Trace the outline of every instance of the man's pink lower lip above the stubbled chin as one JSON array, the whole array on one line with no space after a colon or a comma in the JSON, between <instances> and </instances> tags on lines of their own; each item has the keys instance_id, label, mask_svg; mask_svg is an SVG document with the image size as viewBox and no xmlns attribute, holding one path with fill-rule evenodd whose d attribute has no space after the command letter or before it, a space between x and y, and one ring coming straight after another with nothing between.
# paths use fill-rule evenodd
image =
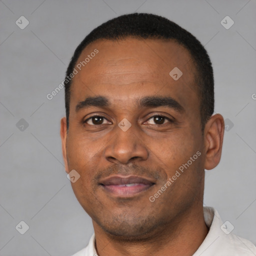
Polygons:
<instances>
[{"instance_id":1,"label":"man's pink lower lip above the stubbled chin","mask_svg":"<svg viewBox=\"0 0 256 256\"><path fill-rule=\"evenodd\" d=\"M122 197L132 196L139 192L147 190L152 185L137 183L131 186L123 185L102 185L107 191Z\"/></svg>"}]
</instances>

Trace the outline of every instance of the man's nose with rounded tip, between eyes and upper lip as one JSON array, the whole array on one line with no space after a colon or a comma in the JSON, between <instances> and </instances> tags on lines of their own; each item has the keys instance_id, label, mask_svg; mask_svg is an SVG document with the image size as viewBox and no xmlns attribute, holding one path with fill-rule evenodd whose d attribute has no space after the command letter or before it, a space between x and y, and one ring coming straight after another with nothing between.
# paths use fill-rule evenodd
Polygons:
<instances>
[{"instance_id":1,"label":"man's nose with rounded tip, between eyes and upper lip","mask_svg":"<svg viewBox=\"0 0 256 256\"><path fill-rule=\"evenodd\" d=\"M112 137L104 151L108 161L128 164L135 159L137 161L147 159L148 150L139 136L139 131L133 125L126 131L116 125L113 132L115 136Z\"/></svg>"}]
</instances>

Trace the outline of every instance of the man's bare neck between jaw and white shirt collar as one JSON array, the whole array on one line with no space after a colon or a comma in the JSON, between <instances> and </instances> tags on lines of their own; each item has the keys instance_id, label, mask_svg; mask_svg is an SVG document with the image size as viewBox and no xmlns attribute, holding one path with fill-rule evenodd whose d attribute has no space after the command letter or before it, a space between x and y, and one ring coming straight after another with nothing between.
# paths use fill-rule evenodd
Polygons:
<instances>
[{"instance_id":1,"label":"man's bare neck between jaw and white shirt collar","mask_svg":"<svg viewBox=\"0 0 256 256\"><path fill-rule=\"evenodd\" d=\"M99 256L191 256L200 246L208 228L204 222L203 207L197 206L178 216L169 225L159 227L157 231L143 240L120 240L102 230L93 222L96 250Z\"/></svg>"}]
</instances>

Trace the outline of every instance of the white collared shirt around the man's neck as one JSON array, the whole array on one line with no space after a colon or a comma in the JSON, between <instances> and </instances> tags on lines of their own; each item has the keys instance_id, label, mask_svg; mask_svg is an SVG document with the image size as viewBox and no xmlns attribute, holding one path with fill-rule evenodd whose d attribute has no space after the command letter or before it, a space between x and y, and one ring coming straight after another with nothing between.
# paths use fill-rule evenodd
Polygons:
<instances>
[{"instance_id":1,"label":"white collared shirt around the man's neck","mask_svg":"<svg viewBox=\"0 0 256 256\"><path fill-rule=\"evenodd\" d=\"M232 224L228 221L223 223L213 207L203 207L203 215L209 231L192 256L256 255L256 246L249 240L233 234ZM93 233L88 245L72 256L98 256L94 242L95 234Z\"/></svg>"}]
</instances>

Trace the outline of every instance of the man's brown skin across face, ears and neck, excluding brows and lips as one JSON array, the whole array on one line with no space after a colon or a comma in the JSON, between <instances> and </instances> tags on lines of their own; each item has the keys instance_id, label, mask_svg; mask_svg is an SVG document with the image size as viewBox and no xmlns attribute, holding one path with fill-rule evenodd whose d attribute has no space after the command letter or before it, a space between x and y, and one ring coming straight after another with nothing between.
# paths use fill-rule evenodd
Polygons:
<instances>
[{"instance_id":1,"label":"man's brown skin across face, ears and neck, excluding brows and lips","mask_svg":"<svg viewBox=\"0 0 256 256\"><path fill-rule=\"evenodd\" d=\"M92 218L100 256L192 255L208 228L203 218L204 169L221 156L224 121L212 115L202 133L196 72L189 52L172 40L97 40L86 46L77 63L99 52L74 76L69 129L61 119L65 170L80 178L71 183L75 196ZM182 71L170 77L173 67ZM88 96L102 95L109 106L75 111ZM138 107L144 96L170 96L184 111L166 106ZM102 124L87 118L103 116ZM155 114L166 116L161 124ZM127 131L118 127L126 118ZM154 195L196 151L201 155L154 202ZM107 193L98 184L113 174L150 178L154 185L130 198Z\"/></svg>"}]
</instances>

